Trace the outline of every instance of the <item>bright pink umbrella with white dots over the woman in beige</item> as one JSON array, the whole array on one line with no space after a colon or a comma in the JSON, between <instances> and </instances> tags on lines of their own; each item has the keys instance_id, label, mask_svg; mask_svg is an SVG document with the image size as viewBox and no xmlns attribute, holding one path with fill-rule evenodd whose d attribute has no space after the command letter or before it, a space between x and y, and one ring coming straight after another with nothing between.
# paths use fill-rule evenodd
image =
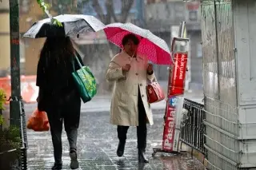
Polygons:
<instances>
[{"instance_id":1,"label":"bright pink umbrella with white dots over the woman in beige","mask_svg":"<svg viewBox=\"0 0 256 170\"><path fill-rule=\"evenodd\" d=\"M140 42L138 45L138 53L146 55L148 59L158 65L171 65L172 59L170 49L166 42L150 30L142 29L131 23L113 23L106 25L104 28L106 38L122 48L122 38L126 34L135 34Z\"/></svg>"}]
</instances>

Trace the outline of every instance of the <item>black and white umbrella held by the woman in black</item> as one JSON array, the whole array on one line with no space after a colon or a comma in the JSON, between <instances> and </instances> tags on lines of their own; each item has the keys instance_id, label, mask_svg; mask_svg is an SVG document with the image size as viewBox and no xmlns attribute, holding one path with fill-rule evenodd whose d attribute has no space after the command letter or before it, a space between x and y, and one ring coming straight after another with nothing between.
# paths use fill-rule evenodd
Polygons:
<instances>
[{"instance_id":1,"label":"black and white umbrella held by the woman in black","mask_svg":"<svg viewBox=\"0 0 256 170\"><path fill-rule=\"evenodd\" d=\"M51 18L35 22L30 30L23 35L26 38L66 37L85 32L97 32L104 28L104 24L94 16L82 14L62 14L54 17L63 26L56 26Z\"/></svg>"}]
</instances>

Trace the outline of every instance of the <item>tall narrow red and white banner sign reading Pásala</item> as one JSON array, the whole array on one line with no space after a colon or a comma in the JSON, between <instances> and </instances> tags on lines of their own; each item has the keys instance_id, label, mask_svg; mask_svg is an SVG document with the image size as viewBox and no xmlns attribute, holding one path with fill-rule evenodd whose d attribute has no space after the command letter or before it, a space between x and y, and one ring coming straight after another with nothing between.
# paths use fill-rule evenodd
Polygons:
<instances>
[{"instance_id":1,"label":"tall narrow red and white banner sign reading P\u00e1sala","mask_svg":"<svg viewBox=\"0 0 256 170\"><path fill-rule=\"evenodd\" d=\"M162 139L162 150L178 152L178 140L182 115L183 94L186 80L187 53L174 54L174 66L169 77L166 120Z\"/></svg>"}]
</instances>

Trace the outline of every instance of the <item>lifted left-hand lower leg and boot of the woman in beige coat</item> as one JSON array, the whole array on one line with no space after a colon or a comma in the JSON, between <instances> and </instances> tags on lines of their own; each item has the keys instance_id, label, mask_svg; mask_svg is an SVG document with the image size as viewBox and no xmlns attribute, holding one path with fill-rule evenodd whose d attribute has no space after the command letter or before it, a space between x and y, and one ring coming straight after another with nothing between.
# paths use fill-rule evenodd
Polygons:
<instances>
[{"instance_id":1,"label":"lifted left-hand lower leg and boot of the woman in beige coat","mask_svg":"<svg viewBox=\"0 0 256 170\"><path fill-rule=\"evenodd\" d=\"M126 134L128 131L129 126L119 126L118 125L118 150L117 150L117 155L123 156L123 152L125 151L125 146L126 146Z\"/></svg>"}]
</instances>

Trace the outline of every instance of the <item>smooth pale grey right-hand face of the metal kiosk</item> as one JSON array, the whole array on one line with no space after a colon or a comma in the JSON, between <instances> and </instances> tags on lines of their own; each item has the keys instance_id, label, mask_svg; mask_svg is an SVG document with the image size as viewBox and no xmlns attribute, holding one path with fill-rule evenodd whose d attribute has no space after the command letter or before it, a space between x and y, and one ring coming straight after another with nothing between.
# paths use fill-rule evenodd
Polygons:
<instances>
[{"instance_id":1,"label":"smooth pale grey right-hand face of the metal kiosk","mask_svg":"<svg viewBox=\"0 0 256 170\"><path fill-rule=\"evenodd\" d=\"M233 6L241 163L256 169L256 2L234 0Z\"/></svg>"}]
</instances>

